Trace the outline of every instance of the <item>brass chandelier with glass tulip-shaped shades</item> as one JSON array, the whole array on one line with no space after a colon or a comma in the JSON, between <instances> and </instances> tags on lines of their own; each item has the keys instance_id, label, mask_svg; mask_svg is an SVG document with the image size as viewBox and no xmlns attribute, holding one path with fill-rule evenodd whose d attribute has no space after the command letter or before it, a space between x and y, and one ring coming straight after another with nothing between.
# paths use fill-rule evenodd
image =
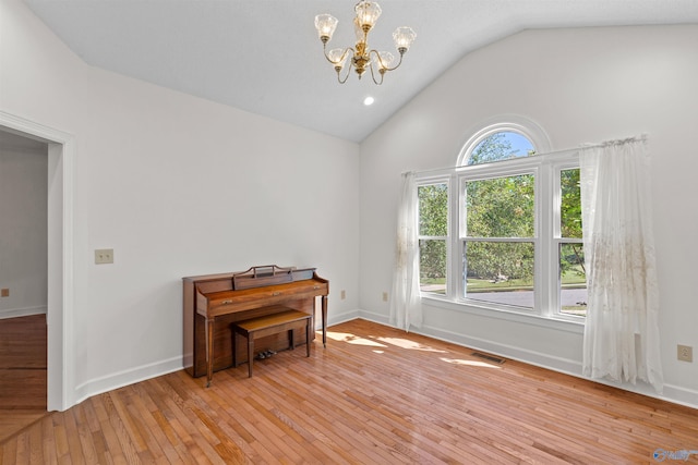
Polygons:
<instances>
[{"instance_id":1,"label":"brass chandelier with glass tulip-shaped shades","mask_svg":"<svg viewBox=\"0 0 698 465\"><path fill-rule=\"evenodd\" d=\"M329 14L318 14L315 16L315 28L317 28L317 35L323 42L323 52L327 61L329 61L337 72L337 81L340 84L347 82L351 68L354 69L359 78L363 76L363 73L371 70L371 77L377 85L383 84L383 76L386 72L396 70L402 63L402 57L405 52L410 49L410 45L417 37L414 30L410 27L398 27L393 33L393 40L395 40L395 48L400 53L400 60L393 66L395 57L388 51L376 51L369 49L369 32L375 25L375 22L381 16L381 7L373 1L361 0L354 7L356 16L353 19L354 33L357 35L357 44L354 47L336 48L327 51L327 42L332 40L332 35L337 28L337 19ZM349 65L346 65L347 59L351 57ZM341 70L347 68L347 72L341 77ZM376 71L380 75L380 79L376 79Z\"/></svg>"}]
</instances>

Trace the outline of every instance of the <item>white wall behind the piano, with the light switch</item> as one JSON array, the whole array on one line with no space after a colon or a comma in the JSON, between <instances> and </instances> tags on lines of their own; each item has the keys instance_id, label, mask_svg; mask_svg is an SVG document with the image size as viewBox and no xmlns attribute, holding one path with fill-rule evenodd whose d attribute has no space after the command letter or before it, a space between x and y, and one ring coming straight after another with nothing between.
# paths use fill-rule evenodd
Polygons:
<instances>
[{"instance_id":1,"label":"white wall behind the piano, with the light switch","mask_svg":"<svg viewBox=\"0 0 698 465\"><path fill-rule=\"evenodd\" d=\"M185 276L316 267L356 315L357 144L91 68L21 0L0 57L0 111L75 140L63 406L181 367Z\"/></svg>"}]
</instances>

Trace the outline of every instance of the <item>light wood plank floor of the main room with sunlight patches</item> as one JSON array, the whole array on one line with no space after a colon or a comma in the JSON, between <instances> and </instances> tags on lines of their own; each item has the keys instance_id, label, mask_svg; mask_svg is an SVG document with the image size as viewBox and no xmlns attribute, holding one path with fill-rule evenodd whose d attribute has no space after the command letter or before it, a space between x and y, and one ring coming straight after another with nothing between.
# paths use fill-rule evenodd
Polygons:
<instances>
[{"instance_id":1,"label":"light wood plank floor of the main room with sunlight patches","mask_svg":"<svg viewBox=\"0 0 698 465\"><path fill-rule=\"evenodd\" d=\"M178 371L51 413L0 463L657 463L698 411L354 320L204 380ZM691 456L690 462L698 461Z\"/></svg>"}]
</instances>

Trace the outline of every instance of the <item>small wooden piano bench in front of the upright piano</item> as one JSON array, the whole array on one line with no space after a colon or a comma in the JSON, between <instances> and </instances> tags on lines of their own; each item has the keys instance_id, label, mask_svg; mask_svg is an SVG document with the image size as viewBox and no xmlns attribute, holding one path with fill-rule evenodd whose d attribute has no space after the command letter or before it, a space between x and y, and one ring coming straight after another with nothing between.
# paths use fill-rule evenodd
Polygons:
<instances>
[{"instance_id":1,"label":"small wooden piano bench in front of the upright piano","mask_svg":"<svg viewBox=\"0 0 698 465\"><path fill-rule=\"evenodd\" d=\"M232 365L238 366L236 355L237 335L248 339L248 377L252 378L252 362L254 360L254 341L265 335L278 334L288 331L289 350L296 347L293 343L293 330L305 329L305 356L310 357L310 343L312 340L311 315L304 311L287 309L277 314L251 318L249 320L232 323Z\"/></svg>"}]
</instances>

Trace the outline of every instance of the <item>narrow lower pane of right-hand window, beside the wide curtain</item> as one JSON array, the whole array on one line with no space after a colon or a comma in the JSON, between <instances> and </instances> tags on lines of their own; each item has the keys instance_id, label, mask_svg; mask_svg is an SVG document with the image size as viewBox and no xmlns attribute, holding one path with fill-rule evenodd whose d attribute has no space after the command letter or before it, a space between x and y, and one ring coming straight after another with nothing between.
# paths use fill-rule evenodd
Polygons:
<instances>
[{"instance_id":1,"label":"narrow lower pane of right-hand window, beside the wide curtain","mask_svg":"<svg viewBox=\"0 0 698 465\"><path fill-rule=\"evenodd\" d=\"M559 245L559 311L587 316L587 271L581 243Z\"/></svg>"}]
</instances>

